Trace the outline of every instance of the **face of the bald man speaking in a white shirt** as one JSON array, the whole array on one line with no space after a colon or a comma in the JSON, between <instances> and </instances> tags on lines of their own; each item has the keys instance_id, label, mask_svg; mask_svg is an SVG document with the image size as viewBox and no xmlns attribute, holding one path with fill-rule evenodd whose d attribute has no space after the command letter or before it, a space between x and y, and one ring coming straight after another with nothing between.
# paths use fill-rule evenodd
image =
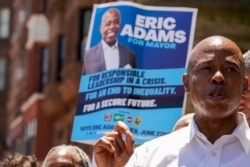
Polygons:
<instances>
[{"instance_id":1,"label":"face of the bald man speaking in a white shirt","mask_svg":"<svg viewBox=\"0 0 250 167\"><path fill-rule=\"evenodd\" d=\"M243 79L242 60L233 46L205 43L193 52L193 66L183 80L196 114L219 119L238 109L247 82Z\"/></svg>"}]
</instances>

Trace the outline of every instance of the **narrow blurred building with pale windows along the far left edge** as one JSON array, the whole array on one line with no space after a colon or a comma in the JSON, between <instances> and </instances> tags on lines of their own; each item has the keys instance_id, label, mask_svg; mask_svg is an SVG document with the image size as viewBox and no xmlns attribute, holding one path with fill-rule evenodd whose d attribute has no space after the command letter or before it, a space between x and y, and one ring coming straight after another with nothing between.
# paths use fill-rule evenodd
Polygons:
<instances>
[{"instance_id":1,"label":"narrow blurred building with pale windows along the far left edge","mask_svg":"<svg viewBox=\"0 0 250 167\"><path fill-rule=\"evenodd\" d=\"M7 134L7 109L5 97L8 93L9 78L9 48L11 31L11 3L8 0L0 1L0 158L6 148L5 136Z\"/></svg>"}]
</instances>

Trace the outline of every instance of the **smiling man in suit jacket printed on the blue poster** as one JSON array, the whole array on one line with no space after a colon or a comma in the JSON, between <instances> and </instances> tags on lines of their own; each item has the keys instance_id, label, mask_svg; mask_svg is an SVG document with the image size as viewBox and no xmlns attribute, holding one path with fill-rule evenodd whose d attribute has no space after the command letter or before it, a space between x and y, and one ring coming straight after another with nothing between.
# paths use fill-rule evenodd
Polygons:
<instances>
[{"instance_id":1,"label":"smiling man in suit jacket printed on the blue poster","mask_svg":"<svg viewBox=\"0 0 250 167\"><path fill-rule=\"evenodd\" d=\"M102 16L100 32L102 40L86 51L84 74L92 74L114 68L136 68L135 54L120 44L117 34L121 26L121 15L115 8L108 9Z\"/></svg>"}]
</instances>

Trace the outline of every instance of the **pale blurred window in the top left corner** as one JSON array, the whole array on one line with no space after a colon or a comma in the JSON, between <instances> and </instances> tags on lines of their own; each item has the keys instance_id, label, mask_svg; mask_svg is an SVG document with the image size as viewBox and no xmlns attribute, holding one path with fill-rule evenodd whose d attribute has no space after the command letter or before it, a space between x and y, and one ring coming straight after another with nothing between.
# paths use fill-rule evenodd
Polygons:
<instances>
[{"instance_id":1,"label":"pale blurred window in the top left corner","mask_svg":"<svg viewBox=\"0 0 250 167\"><path fill-rule=\"evenodd\" d=\"M0 9L0 38L9 36L10 10L8 8Z\"/></svg>"}]
</instances>

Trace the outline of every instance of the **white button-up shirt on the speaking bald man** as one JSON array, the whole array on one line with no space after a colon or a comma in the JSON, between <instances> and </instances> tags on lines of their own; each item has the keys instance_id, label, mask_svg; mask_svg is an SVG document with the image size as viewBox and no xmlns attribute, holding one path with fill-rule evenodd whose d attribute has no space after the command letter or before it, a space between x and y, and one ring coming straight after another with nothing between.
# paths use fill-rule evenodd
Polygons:
<instances>
[{"instance_id":1,"label":"white button-up shirt on the speaking bald man","mask_svg":"<svg viewBox=\"0 0 250 167\"><path fill-rule=\"evenodd\" d=\"M230 135L211 144L194 120L135 149L126 167L250 167L250 129L245 115Z\"/></svg>"}]
</instances>

